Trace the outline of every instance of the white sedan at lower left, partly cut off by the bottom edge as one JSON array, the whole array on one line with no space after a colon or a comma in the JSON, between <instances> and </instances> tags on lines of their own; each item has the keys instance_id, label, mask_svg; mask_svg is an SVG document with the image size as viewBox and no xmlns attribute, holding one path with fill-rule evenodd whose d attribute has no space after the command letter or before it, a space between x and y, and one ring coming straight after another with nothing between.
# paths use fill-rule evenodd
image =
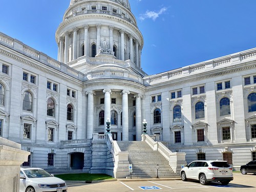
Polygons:
<instances>
[{"instance_id":1,"label":"white sedan at lower left, partly cut off by the bottom edge","mask_svg":"<svg viewBox=\"0 0 256 192\"><path fill-rule=\"evenodd\" d=\"M67 192L65 181L41 168L20 168L19 192Z\"/></svg>"}]
</instances>

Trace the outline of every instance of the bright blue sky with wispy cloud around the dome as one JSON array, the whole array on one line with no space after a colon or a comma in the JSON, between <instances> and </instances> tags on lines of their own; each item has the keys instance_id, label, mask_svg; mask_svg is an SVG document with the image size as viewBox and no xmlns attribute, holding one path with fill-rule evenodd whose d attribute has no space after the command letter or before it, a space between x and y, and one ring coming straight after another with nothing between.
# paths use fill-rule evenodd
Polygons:
<instances>
[{"instance_id":1,"label":"bright blue sky with wispy cloud around the dome","mask_svg":"<svg viewBox=\"0 0 256 192\"><path fill-rule=\"evenodd\" d=\"M1 1L0 31L57 58L55 31L70 0ZM130 0L147 74L256 47L255 0Z\"/></svg>"}]
</instances>

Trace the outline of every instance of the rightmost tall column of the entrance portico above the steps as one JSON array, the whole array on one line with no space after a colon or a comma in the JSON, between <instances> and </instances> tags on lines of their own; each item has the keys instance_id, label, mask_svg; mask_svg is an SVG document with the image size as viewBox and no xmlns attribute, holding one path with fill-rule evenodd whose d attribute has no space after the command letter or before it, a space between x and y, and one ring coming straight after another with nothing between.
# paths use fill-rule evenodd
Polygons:
<instances>
[{"instance_id":1,"label":"rightmost tall column of the entrance portico above the steps","mask_svg":"<svg viewBox=\"0 0 256 192\"><path fill-rule=\"evenodd\" d=\"M135 95L136 98L136 140L141 141L142 135L142 118L141 118L141 95Z\"/></svg>"}]
</instances>

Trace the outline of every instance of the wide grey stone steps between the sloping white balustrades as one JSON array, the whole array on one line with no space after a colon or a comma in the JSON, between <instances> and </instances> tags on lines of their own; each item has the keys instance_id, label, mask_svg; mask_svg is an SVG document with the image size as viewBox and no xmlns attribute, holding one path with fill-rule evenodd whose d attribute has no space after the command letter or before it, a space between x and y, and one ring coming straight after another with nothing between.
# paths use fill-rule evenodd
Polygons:
<instances>
[{"instance_id":1,"label":"wide grey stone steps between the sloping white balustrades","mask_svg":"<svg viewBox=\"0 0 256 192\"><path fill-rule=\"evenodd\" d=\"M129 152L128 160L133 165L132 178L157 178L157 165L159 178L180 177L168 161L145 141L117 141L117 144L122 152Z\"/></svg>"}]
</instances>

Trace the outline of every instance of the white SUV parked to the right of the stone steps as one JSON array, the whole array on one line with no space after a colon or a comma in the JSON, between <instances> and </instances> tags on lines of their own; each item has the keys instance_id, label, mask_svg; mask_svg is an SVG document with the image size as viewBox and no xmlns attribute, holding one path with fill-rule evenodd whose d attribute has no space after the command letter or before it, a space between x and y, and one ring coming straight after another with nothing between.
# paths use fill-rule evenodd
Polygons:
<instances>
[{"instance_id":1,"label":"white SUV parked to the right of the stone steps","mask_svg":"<svg viewBox=\"0 0 256 192\"><path fill-rule=\"evenodd\" d=\"M187 179L199 180L202 185L206 185L210 181L221 182L227 185L233 180L233 168L227 161L193 161L183 167L180 172L182 181Z\"/></svg>"}]
</instances>

